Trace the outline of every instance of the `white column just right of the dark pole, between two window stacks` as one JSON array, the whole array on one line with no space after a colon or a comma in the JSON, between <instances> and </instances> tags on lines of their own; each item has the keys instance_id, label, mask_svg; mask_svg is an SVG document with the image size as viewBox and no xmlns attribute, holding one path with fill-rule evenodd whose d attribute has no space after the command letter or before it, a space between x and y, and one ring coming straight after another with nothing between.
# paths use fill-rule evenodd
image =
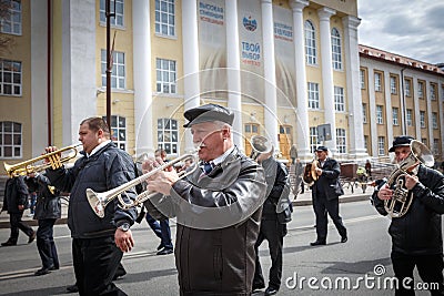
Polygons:
<instances>
[{"instance_id":1,"label":"white column just right of the dark pole, between two window stacks","mask_svg":"<svg viewBox=\"0 0 444 296\"><path fill-rule=\"evenodd\" d=\"M132 2L135 156L153 154L150 1Z\"/></svg>"}]
</instances>

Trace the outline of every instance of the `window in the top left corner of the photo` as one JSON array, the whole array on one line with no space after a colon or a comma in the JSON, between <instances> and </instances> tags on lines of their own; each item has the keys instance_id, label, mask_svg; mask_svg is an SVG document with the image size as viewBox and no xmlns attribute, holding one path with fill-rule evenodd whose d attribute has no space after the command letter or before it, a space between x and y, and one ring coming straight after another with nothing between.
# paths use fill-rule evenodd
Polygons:
<instances>
[{"instance_id":1,"label":"window in the top left corner of the photo","mask_svg":"<svg viewBox=\"0 0 444 296\"><path fill-rule=\"evenodd\" d=\"M21 35L21 0L2 0L1 4L8 12L1 13L0 32Z\"/></svg>"}]
</instances>

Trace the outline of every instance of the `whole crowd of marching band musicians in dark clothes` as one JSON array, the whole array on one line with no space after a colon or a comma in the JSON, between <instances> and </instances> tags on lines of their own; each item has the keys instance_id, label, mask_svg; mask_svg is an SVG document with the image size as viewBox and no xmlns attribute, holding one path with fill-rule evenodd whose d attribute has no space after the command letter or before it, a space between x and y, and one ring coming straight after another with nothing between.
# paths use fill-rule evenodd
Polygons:
<instances>
[{"instance_id":1,"label":"whole crowd of marching band musicians in dark clothes","mask_svg":"<svg viewBox=\"0 0 444 296\"><path fill-rule=\"evenodd\" d=\"M278 294L286 224L293 211L287 167L274 157L273 146L255 159L245 156L233 143L234 113L224 106L201 105L186 110L184 118L188 120L184 127L191 131L200 162L186 161L183 166L157 171L143 184L142 191L153 193L144 202L142 217L160 238L157 254L174 253L180 295L251 295L260 289L265 289L264 295ZM158 150L138 169L131 156L110 140L109 126L101 118L80 123L79 141L83 145L82 157L72 167L48 169L8 180L3 210L10 214L11 235L1 245L16 245L21 229L29 243L37 237L42 267L36 275L59 269L53 225L61 214L60 192L67 192L75 275L75 284L69 290L80 295L127 295L113 280L127 273L121 259L134 246L131 227L140 223L141 214L135 207L122 210L114 198L105 207L104 217L99 217L87 202L85 190L105 192L127 184L140 173L167 163L167 154ZM412 141L415 140L411 136L395 137L390 152L395 154L396 163L411 155ZM48 146L46 152L57 152L57 147ZM340 242L346 243L349 233L339 203L344 194L341 166L329 155L327 146L317 146L315 154L317 165L310 190L316 239L310 245L326 245L327 215L341 236ZM295 146L291 159L295 172L302 174ZM193 165L196 170L189 171ZM364 167L371 175L370 162ZM183 171L190 174L180 176ZM440 284L432 294L442 295L444 176L417 161L405 169L404 178L405 190L414 198L405 215L392 218L389 231L395 276L413 278L413 269L417 267L423 280ZM297 182L296 188L302 184L303 191L302 180ZM375 183L372 202L379 213L387 215L385 201L394 198L396 188L389 186L386 180ZM21 221L30 194L37 196L33 213L37 232ZM134 187L128 187L121 198L132 202L138 194ZM174 245L169 226L172 217L176 220ZM269 243L271 257L268 283L259 256L263 241ZM414 292L402 286L396 295L414 295Z\"/></svg>"}]
</instances>

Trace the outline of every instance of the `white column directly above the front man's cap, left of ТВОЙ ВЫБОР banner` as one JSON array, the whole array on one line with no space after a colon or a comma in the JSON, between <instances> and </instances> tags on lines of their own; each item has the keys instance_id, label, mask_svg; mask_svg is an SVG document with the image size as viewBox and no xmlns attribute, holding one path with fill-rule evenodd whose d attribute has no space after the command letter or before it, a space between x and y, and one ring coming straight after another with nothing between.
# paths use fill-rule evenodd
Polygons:
<instances>
[{"instance_id":1,"label":"white column directly above the front man's cap, left of \u0422\u0412\u041e\u0419 \u0412\u042b\u0411\u041e\u0420 banner","mask_svg":"<svg viewBox=\"0 0 444 296\"><path fill-rule=\"evenodd\" d=\"M241 58L239 51L238 0L225 0L226 23L226 75L229 85L228 106L234 112L234 144L244 152L242 96L241 96Z\"/></svg>"}]
</instances>

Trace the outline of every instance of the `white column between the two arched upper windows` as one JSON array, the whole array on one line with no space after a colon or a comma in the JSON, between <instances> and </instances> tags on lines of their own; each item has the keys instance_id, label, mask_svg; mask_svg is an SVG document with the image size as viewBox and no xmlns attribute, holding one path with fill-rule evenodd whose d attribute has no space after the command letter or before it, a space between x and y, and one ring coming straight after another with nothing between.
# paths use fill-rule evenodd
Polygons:
<instances>
[{"instance_id":1,"label":"white column between the two arched upper windows","mask_svg":"<svg viewBox=\"0 0 444 296\"><path fill-rule=\"evenodd\" d=\"M336 11L330 8L317 10L320 18L321 33L321 62L322 62L322 85L324 96L325 123L332 127L332 140L326 142L332 154L336 153L336 119L334 114L334 92L333 92L333 65L332 65L332 41L330 30L330 17Z\"/></svg>"}]
</instances>

